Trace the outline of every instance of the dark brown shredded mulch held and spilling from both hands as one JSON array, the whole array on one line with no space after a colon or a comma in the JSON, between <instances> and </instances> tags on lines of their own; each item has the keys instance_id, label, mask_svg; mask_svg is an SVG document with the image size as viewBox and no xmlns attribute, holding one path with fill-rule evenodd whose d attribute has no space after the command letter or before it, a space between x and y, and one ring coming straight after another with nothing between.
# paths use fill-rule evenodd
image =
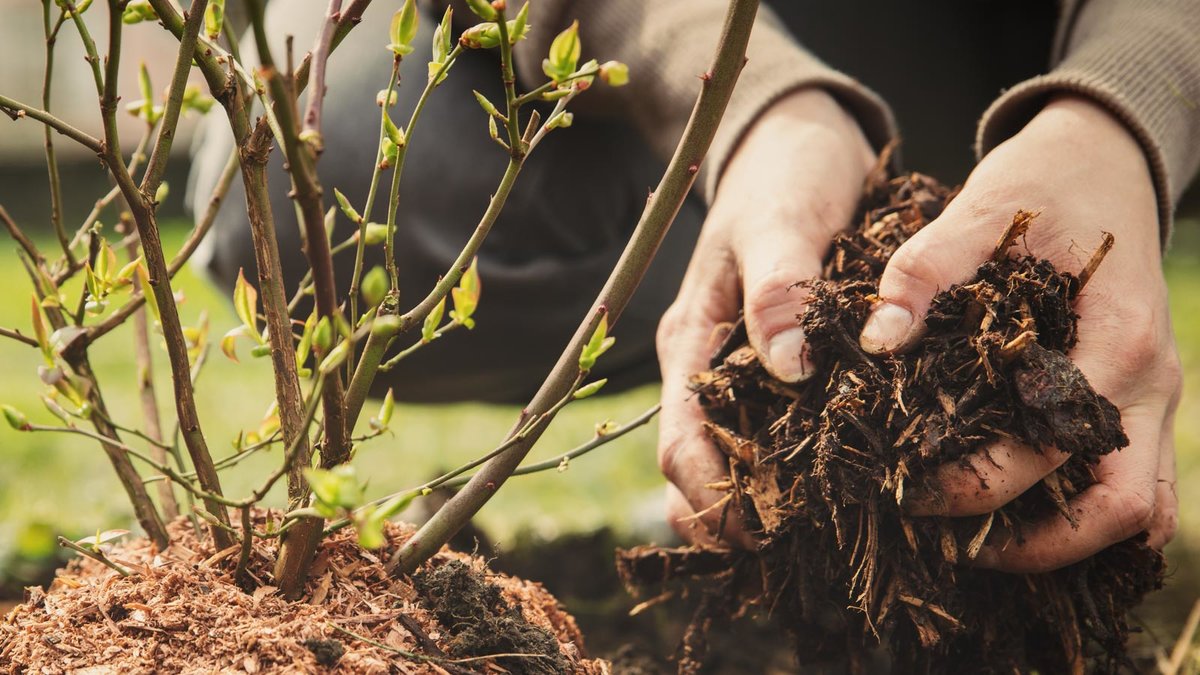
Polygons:
<instances>
[{"instance_id":1,"label":"dark brown shredded mulch held and spilling from both hands","mask_svg":"<svg viewBox=\"0 0 1200 675\"><path fill-rule=\"evenodd\" d=\"M817 369L809 381L772 378L740 323L695 377L710 436L728 456L727 503L738 507L728 516L740 514L760 545L619 552L631 587L703 590L680 673L700 668L714 622L756 607L791 633L802 662L851 671L881 658L899 673L1129 665L1127 611L1164 572L1144 536L1048 574L968 565L985 543L1019 542L1027 524L1073 519L1068 503L1094 484L1092 467L1128 444L1117 408L1066 356L1073 304L1111 235L1076 276L1014 251L1034 217L1020 211L976 279L935 298L914 350L875 357L859 347L888 259L952 197L917 173L868 181L859 226L835 239L823 279L808 283L798 318ZM936 498L934 468L1003 437L1070 458L988 515L904 512L905 490Z\"/></svg>"}]
</instances>

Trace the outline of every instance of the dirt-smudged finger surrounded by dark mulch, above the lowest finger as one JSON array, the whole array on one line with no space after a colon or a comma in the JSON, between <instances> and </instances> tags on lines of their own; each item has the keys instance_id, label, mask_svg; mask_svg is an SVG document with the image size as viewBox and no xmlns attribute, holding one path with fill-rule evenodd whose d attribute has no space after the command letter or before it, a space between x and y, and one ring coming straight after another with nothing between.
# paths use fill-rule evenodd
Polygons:
<instances>
[{"instance_id":1,"label":"dirt-smudged finger surrounded by dark mulch, above the lowest finger","mask_svg":"<svg viewBox=\"0 0 1200 675\"><path fill-rule=\"evenodd\" d=\"M982 515L1025 494L1070 456L1056 448L1039 452L1003 438L988 449L934 471L931 485L905 492L911 515Z\"/></svg>"}]
</instances>

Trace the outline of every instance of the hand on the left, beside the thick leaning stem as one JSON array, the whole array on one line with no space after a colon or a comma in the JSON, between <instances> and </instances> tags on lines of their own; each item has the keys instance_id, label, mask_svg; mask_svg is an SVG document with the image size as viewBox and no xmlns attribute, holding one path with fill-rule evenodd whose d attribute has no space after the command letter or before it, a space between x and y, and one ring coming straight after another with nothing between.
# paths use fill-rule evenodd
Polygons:
<instances>
[{"instance_id":1,"label":"hand on the left, beside the thick leaning stem","mask_svg":"<svg viewBox=\"0 0 1200 675\"><path fill-rule=\"evenodd\" d=\"M730 159L658 333L659 465L672 483L667 516L692 543L752 545L732 512L718 537L725 509L714 504L727 492L708 485L728 479L728 464L704 432L689 378L707 370L718 325L736 321L743 307L750 345L775 377L800 382L811 375L797 321L805 292L796 283L820 276L875 161L858 124L821 89L770 106Z\"/></svg>"}]
</instances>

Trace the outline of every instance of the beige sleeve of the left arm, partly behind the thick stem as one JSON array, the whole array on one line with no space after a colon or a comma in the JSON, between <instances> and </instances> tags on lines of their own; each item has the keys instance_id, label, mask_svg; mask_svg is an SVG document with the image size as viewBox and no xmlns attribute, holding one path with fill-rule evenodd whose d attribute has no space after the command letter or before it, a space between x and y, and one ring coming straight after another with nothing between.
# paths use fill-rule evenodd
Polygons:
<instances>
[{"instance_id":1,"label":"beige sleeve of the left arm, partly behind the thick stem","mask_svg":"<svg viewBox=\"0 0 1200 675\"><path fill-rule=\"evenodd\" d=\"M728 5L726 0L533 0L529 38L517 46L518 78L545 82L541 61L550 42L580 20L583 59L614 59L629 65L630 83L593 88L580 103L619 109L666 159L683 133L709 67ZM881 149L895 135L883 101L854 79L834 71L800 48L766 7L750 37L749 61L700 175L712 199L731 153L745 130L774 101L796 89L821 86L851 110L868 139ZM586 98L593 101L588 103Z\"/></svg>"}]
</instances>

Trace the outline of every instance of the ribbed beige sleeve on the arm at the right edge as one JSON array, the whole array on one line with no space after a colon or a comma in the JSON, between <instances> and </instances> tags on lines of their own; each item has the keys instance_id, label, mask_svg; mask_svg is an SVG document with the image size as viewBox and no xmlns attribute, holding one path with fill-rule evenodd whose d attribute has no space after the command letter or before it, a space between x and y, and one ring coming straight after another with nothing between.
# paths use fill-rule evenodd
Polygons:
<instances>
[{"instance_id":1,"label":"ribbed beige sleeve on the arm at the right edge","mask_svg":"<svg viewBox=\"0 0 1200 675\"><path fill-rule=\"evenodd\" d=\"M1068 1L1052 66L984 113L978 156L1016 133L1048 97L1088 96L1121 119L1145 150L1165 243L1175 204L1200 165L1200 1Z\"/></svg>"}]
</instances>

